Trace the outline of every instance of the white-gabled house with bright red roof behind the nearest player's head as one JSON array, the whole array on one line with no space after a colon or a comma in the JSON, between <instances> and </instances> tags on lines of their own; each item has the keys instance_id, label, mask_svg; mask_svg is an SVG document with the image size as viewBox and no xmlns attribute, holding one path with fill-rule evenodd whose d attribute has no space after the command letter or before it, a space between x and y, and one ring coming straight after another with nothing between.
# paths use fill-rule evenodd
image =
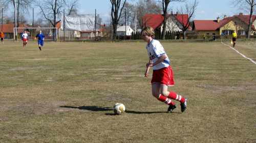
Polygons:
<instances>
[{"instance_id":1,"label":"white-gabled house with bright red roof behind the nearest player's head","mask_svg":"<svg viewBox=\"0 0 256 143\"><path fill-rule=\"evenodd\" d=\"M173 11L170 14L167 14L166 21L166 31L176 31L181 32L183 26L189 26L188 14L173 14ZM162 31L163 29L163 14L146 14L143 16L144 27L150 26L155 31Z\"/></svg>"}]
</instances>

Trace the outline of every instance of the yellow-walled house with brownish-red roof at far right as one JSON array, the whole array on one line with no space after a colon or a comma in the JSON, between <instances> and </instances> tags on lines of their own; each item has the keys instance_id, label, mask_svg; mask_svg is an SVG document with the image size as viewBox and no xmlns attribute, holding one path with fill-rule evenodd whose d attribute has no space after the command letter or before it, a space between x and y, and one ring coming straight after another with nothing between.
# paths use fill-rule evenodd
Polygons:
<instances>
[{"instance_id":1,"label":"yellow-walled house with brownish-red roof at far right","mask_svg":"<svg viewBox=\"0 0 256 143\"><path fill-rule=\"evenodd\" d=\"M231 35L234 30L237 31L238 35L246 35L249 23L249 15L234 15L232 17L224 16L224 19L220 20L194 20L193 30L199 35ZM256 15L252 16L252 26L250 35L256 32Z\"/></svg>"}]
</instances>

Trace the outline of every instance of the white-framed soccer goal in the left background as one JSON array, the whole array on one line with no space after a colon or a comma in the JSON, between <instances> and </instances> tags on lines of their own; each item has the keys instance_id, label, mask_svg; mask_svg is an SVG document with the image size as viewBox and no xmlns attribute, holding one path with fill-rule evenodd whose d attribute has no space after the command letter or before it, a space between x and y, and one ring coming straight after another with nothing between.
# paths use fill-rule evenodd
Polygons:
<instances>
[{"instance_id":1,"label":"white-framed soccer goal in the left background","mask_svg":"<svg viewBox=\"0 0 256 143\"><path fill-rule=\"evenodd\" d=\"M42 31L42 34L45 35L45 41L55 41L58 42L58 28L13 28L13 38L15 41L18 41L18 37L22 37L24 30L28 31L28 39L33 40L35 36ZM17 35L15 35L15 33Z\"/></svg>"}]
</instances>

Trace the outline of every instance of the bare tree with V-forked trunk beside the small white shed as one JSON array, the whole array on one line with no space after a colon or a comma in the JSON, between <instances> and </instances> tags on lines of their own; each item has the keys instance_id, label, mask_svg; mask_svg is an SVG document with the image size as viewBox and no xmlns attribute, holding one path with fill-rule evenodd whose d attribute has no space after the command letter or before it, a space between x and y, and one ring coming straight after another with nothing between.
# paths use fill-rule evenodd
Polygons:
<instances>
[{"instance_id":1,"label":"bare tree with V-forked trunk beside the small white shed","mask_svg":"<svg viewBox=\"0 0 256 143\"><path fill-rule=\"evenodd\" d=\"M117 35L117 25L118 25L123 7L126 3L126 0L123 0L123 3L121 2L121 0L110 0L110 2L112 5L111 18L112 18L112 26L113 26L113 40L115 40Z\"/></svg>"}]
</instances>

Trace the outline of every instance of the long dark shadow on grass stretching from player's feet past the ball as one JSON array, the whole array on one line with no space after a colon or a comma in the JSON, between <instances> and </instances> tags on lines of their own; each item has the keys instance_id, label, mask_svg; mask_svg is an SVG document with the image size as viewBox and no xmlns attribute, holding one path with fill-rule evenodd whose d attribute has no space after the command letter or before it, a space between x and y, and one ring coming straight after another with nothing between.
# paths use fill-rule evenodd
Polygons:
<instances>
[{"instance_id":1,"label":"long dark shadow on grass stretching from player's feet past the ball","mask_svg":"<svg viewBox=\"0 0 256 143\"><path fill-rule=\"evenodd\" d=\"M80 109L80 110L90 110L90 111L112 111L113 109L110 107L102 107L102 106L60 106L61 108L73 108L73 109ZM152 114L152 113L166 113L166 112L141 112L141 111L130 111L125 110L125 113L132 113L132 114ZM178 112L173 112L178 113ZM115 113L105 113L106 115L115 115Z\"/></svg>"}]
</instances>

